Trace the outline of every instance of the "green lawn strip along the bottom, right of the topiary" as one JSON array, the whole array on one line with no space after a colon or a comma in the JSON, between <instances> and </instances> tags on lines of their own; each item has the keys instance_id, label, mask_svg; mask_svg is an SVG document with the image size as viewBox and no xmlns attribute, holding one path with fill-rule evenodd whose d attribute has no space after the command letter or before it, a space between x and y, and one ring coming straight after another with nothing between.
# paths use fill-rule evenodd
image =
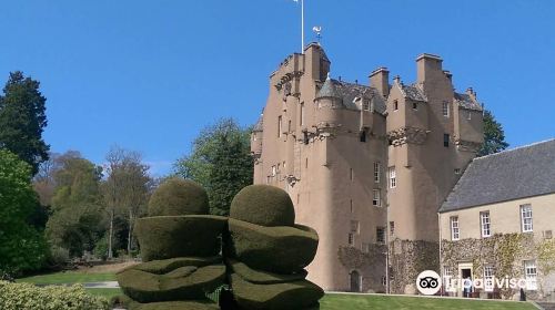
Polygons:
<instances>
[{"instance_id":1,"label":"green lawn strip along the bottom, right of the topiary","mask_svg":"<svg viewBox=\"0 0 555 310\"><path fill-rule=\"evenodd\" d=\"M447 298L418 298L398 296L361 296L361 294L339 294L327 293L320 301L321 310L366 310L366 309L472 309L472 310L534 310L531 303L509 301L484 301L484 300L461 300Z\"/></svg>"}]
</instances>

